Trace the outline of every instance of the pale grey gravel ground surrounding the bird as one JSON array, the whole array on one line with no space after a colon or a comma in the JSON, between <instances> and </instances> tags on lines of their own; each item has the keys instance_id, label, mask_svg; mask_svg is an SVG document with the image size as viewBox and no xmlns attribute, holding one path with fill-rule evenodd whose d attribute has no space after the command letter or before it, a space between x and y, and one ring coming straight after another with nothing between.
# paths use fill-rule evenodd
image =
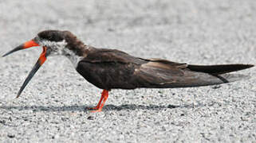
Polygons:
<instances>
[{"instance_id":1,"label":"pale grey gravel ground surrounding the bird","mask_svg":"<svg viewBox=\"0 0 256 143\"><path fill-rule=\"evenodd\" d=\"M255 0L0 0L0 54L45 29L85 44L189 64L256 64ZM0 60L0 142L255 142L256 72L221 86L100 89L49 57L19 99L41 48Z\"/></svg>"}]
</instances>

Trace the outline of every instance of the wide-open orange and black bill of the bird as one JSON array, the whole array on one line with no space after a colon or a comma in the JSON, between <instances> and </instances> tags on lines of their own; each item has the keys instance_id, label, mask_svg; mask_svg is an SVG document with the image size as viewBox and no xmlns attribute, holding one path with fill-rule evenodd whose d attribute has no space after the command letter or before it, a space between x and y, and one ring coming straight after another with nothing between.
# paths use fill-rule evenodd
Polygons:
<instances>
[{"instance_id":1,"label":"wide-open orange and black bill of the bird","mask_svg":"<svg viewBox=\"0 0 256 143\"><path fill-rule=\"evenodd\" d=\"M31 47L35 47L35 46L39 46L39 44L37 44L33 40L32 41L27 41L26 43L19 45L17 48L14 48L10 52L7 52L2 57L7 56L7 55L9 55L9 54L11 54L13 52L25 49L25 48L31 48ZM30 79L32 79L33 75L35 75L35 73L41 67L41 65L45 63L46 56L47 56L46 52L47 52L47 48L44 46L43 47L43 51L41 52L41 55L40 55L40 57L37 60L37 63L33 66L33 69L31 70L30 74L26 77L24 83L22 84L22 87L18 91L18 95L16 96L16 98L18 98L22 94L22 91L24 90L26 85L30 82Z\"/></svg>"}]
</instances>

